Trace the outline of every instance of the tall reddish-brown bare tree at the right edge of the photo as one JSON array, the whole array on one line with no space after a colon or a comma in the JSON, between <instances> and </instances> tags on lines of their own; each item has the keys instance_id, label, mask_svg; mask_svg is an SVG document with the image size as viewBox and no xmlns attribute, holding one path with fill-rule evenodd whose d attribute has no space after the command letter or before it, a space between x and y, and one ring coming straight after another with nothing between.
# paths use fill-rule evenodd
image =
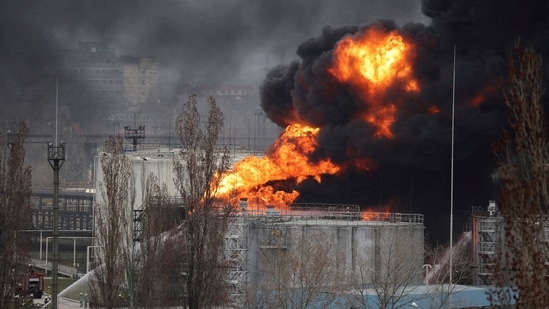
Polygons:
<instances>
[{"instance_id":1,"label":"tall reddish-brown bare tree at the right edge of the photo","mask_svg":"<svg viewBox=\"0 0 549 309\"><path fill-rule=\"evenodd\" d=\"M501 180L502 248L495 258L490 299L494 305L548 308L549 282L544 223L547 222L548 140L541 99L542 57L516 42L502 89L509 129L493 151Z\"/></svg>"}]
</instances>

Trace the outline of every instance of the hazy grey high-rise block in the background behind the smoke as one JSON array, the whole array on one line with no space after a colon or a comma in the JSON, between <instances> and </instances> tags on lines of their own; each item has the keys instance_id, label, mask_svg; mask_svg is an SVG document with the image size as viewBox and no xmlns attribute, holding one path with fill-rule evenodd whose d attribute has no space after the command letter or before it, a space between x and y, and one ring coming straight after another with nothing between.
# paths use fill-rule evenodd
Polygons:
<instances>
[{"instance_id":1,"label":"hazy grey high-rise block in the background behind the smoke","mask_svg":"<svg viewBox=\"0 0 549 309\"><path fill-rule=\"evenodd\" d=\"M139 113L158 103L156 58L117 56L108 43L81 42L63 50L60 61L59 105L73 130L93 132L113 114Z\"/></svg>"}]
</instances>

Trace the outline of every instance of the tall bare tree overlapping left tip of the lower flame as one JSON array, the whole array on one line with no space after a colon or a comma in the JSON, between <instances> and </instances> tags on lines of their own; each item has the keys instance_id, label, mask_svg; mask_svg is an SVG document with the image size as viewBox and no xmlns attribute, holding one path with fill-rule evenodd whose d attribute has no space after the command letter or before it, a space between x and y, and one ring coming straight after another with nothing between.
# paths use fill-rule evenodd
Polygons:
<instances>
[{"instance_id":1,"label":"tall bare tree overlapping left tip of the lower flame","mask_svg":"<svg viewBox=\"0 0 549 309\"><path fill-rule=\"evenodd\" d=\"M196 96L183 104L176 132L183 148L174 162L175 184L186 209L182 224L186 248L184 301L191 308L207 308L229 302L224 235L232 207L216 207L215 193L221 172L229 168L229 152L217 149L223 114L215 99L208 99L209 113L201 122Z\"/></svg>"}]
</instances>

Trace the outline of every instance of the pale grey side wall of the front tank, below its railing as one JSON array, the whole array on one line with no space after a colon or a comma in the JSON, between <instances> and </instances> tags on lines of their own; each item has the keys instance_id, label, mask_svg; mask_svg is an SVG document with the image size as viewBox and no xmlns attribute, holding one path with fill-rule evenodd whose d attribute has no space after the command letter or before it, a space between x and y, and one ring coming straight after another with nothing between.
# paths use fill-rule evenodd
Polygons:
<instances>
[{"instance_id":1,"label":"pale grey side wall of the front tank, below its railing","mask_svg":"<svg viewBox=\"0 0 549 309\"><path fill-rule=\"evenodd\" d=\"M300 248L296 244L328 247L327 252L334 250L340 258L330 267L346 274L347 284L381 284L384 278L394 276L387 274L390 263L399 264L401 270L407 271L400 274L403 281L398 283L420 284L423 280L424 226L420 223L299 218L276 223L257 217L248 224L246 264L248 286L252 288L265 283L265 268L274 267L274 259L280 263L277 267L288 267L284 266L288 263L284 257L299 255ZM296 242L296 239L303 242ZM306 263L308 258L304 255L301 261Z\"/></svg>"}]
</instances>

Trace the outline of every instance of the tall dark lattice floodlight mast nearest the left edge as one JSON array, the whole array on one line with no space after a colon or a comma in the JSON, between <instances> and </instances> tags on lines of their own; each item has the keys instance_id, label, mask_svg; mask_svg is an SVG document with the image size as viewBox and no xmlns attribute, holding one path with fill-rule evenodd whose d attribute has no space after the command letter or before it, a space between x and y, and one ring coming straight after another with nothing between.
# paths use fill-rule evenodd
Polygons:
<instances>
[{"instance_id":1,"label":"tall dark lattice floodlight mast nearest the left edge","mask_svg":"<svg viewBox=\"0 0 549 309\"><path fill-rule=\"evenodd\" d=\"M66 142L58 145L48 143L48 162L53 169L53 261L52 261L52 308L57 309L57 287L59 268L59 170L65 162Z\"/></svg>"}]
</instances>

